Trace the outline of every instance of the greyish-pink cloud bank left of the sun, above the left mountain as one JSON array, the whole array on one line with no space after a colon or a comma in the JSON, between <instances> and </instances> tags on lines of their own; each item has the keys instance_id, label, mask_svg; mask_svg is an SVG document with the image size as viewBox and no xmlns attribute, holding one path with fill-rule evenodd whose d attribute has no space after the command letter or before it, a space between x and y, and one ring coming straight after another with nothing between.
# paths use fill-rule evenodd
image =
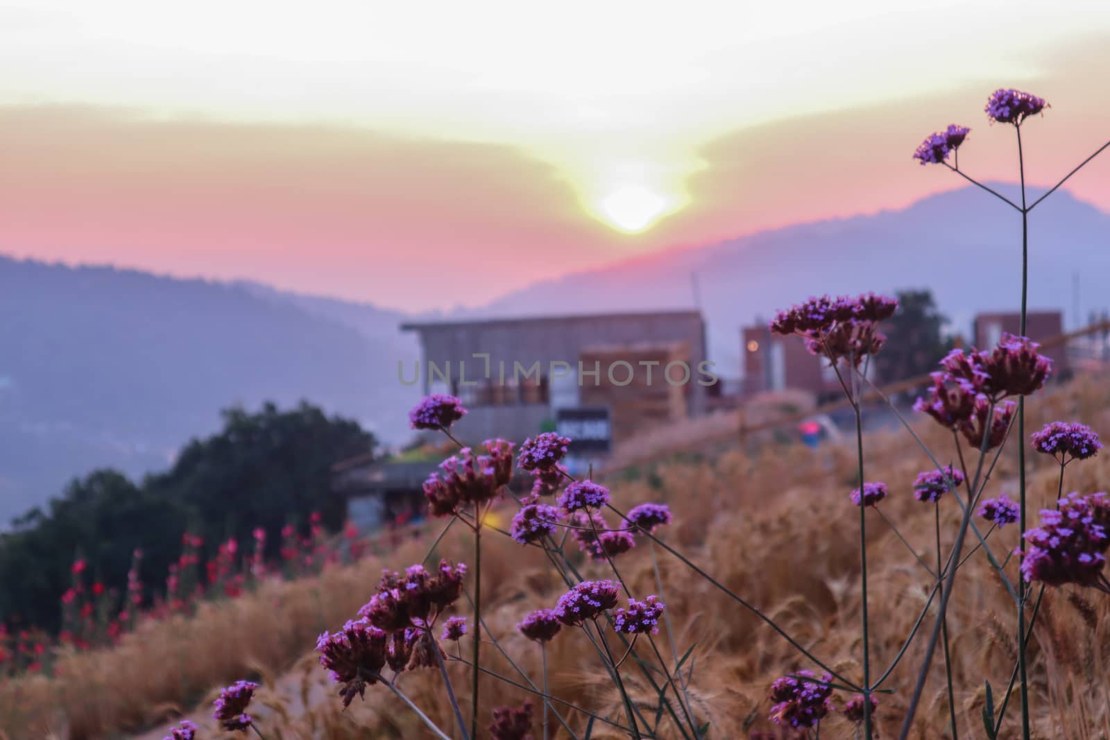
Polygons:
<instances>
[{"instance_id":1,"label":"greyish-pink cloud bank left of the sun, above the left mountain","mask_svg":"<svg viewBox=\"0 0 1110 740\"><path fill-rule=\"evenodd\" d=\"M359 128L0 109L0 250L251 277L402 307L484 303L622 244L548 164Z\"/></svg>"}]
</instances>

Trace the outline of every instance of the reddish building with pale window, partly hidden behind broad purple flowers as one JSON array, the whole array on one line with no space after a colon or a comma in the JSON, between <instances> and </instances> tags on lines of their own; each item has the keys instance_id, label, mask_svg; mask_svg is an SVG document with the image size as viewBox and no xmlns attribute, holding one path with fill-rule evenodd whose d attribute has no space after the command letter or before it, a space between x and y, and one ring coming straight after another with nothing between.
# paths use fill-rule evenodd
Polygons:
<instances>
[{"instance_id":1,"label":"reddish building with pale window, partly hidden behind broad purple flowers","mask_svg":"<svg viewBox=\"0 0 1110 740\"><path fill-rule=\"evenodd\" d=\"M766 323L745 326L741 334L745 397L787 389L818 399L844 393L828 359L809 354L800 337L771 334Z\"/></svg>"}]
</instances>

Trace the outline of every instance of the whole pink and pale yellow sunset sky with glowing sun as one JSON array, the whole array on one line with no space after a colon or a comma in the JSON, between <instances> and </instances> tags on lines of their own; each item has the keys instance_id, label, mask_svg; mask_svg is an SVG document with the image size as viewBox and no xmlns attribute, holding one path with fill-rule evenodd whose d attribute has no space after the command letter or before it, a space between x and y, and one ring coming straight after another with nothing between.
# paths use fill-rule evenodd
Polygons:
<instances>
[{"instance_id":1,"label":"whole pink and pale yellow sunset sky with glowing sun","mask_svg":"<svg viewBox=\"0 0 1110 740\"><path fill-rule=\"evenodd\" d=\"M0 253L423 311L1110 139L1110 3L0 0ZM1110 211L1110 160L1069 183Z\"/></svg>"}]
</instances>

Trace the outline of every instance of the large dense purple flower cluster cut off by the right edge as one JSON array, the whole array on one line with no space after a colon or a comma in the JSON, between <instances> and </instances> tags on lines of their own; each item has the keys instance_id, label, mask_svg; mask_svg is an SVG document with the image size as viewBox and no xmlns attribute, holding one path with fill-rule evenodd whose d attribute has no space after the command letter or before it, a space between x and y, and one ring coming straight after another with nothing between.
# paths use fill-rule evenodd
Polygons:
<instances>
[{"instance_id":1,"label":"large dense purple flower cluster cut off by the right edge","mask_svg":"<svg viewBox=\"0 0 1110 740\"><path fill-rule=\"evenodd\" d=\"M1048 586L1078 584L1107 589L1102 568L1110 546L1110 497L1069 494L1059 509L1042 509L1041 525L1023 535L1021 574Z\"/></svg>"}]
</instances>

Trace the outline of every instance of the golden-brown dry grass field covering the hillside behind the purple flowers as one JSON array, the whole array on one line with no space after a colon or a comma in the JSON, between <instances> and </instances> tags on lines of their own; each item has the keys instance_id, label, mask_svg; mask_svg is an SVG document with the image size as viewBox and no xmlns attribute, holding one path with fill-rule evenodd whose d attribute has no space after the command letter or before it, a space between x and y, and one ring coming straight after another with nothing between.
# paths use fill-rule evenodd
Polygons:
<instances>
[{"instance_id":1,"label":"golden-brown dry grass field covering the hillside behind the purple flowers","mask_svg":"<svg viewBox=\"0 0 1110 740\"><path fill-rule=\"evenodd\" d=\"M1090 377L1030 398L1028 428L1048 420L1079 420L1097 430L1110 429L1110 386ZM953 458L951 436L928 419L912 419L915 428L942 462ZM1011 444L992 474L987 496L1015 493L1016 447ZM912 481L930 467L926 455L904 430L866 439L867 478L885 480L890 496L880 506L897 523L927 561L935 558L934 507L915 500ZM734 450L713 459L660 460L637 474L614 476L617 508L642 501L670 505L675 523L660 537L683 551L733 591L759 606L839 672L858 679L859 646L859 509L848 500L855 484L854 446L826 445L810 450L800 445L768 445L757 453ZM1030 500L1036 508L1056 495L1057 467L1032 456ZM1107 487L1110 455L1068 467L1066 490ZM512 501L497 509L503 521ZM867 511L872 660L881 670L894 659L910 632L931 588L931 578L879 515ZM959 519L955 500L941 500L946 547ZM442 523L433 523L442 526ZM991 535L996 551L1011 550L1017 525ZM533 681L539 677L539 652L521 637L515 624L528 611L554 606L563 592L543 554L506 537L488 536L483 557L483 592L488 629ZM56 678L28 677L0 685L0 737L92 738L132 737L152 727L186 717L202 727L202 738L223 737L212 727L211 700L219 688L240 678L260 678L255 717L271 740L310 738L424 738L427 731L383 687L371 687L365 701L342 711L325 671L312 649L317 633L335 629L364 604L383 567L401 568L423 559L430 539L415 540L387 561L367 559L334 568L317 579L275 582L233 601L205 604L195 618L150 624L128 636L117 648L67 656ZM441 545L448 558L467 560L470 537L463 528ZM573 545L571 546L573 548ZM967 546L970 548L970 545ZM754 730L770 731L767 689L784 675L807 666L769 628L697 578L682 562L655 548L662 576L657 587L652 548L642 541L620 556L617 566L637 597L658 594L667 604L682 655L696 646L690 701L699 721L710 723L710 738L747 738ZM604 564L582 562L587 576L608 577ZM1008 566L1017 578L1017 564ZM1031 648L1035 733L1039 738L1089 740L1110 738L1110 618L1108 599L1072 587L1050 589ZM926 625L931 620L927 618ZM983 737L981 706L985 681L995 689L996 704L1015 661L1012 602L999 579L977 553L961 569L949 609L952 661L960 737ZM919 656L921 636L890 675L880 697L877 722L880 738L895 737L906 706ZM668 659L667 632L656 638ZM488 668L523 682L492 646L483 650ZM922 711L912 737L948 737L944 661L938 655L926 688ZM616 689L605 677L585 638L564 630L548 646L552 693L603 716L620 717ZM468 670L451 666L453 682L468 706ZM630 662L622 668L629 691L646 696L643 673ZM442 696L436 671L404 673L400 686L448 733L451 708ZM495 704L519 703L523 690L483 681L486 718ZM847 697L838 697L842 706ZM566 711L576 727L585 718ZM1016 706L1011 703L1000 737L1013 736ZM556 726L557 727L557 726ZM851 738L854 726L833 717L823 722L821 738ZM142 736L148 737L148 736ZM230 736L229 736L230 737ZM242 737L242 736L241 736ZM537 736L538 737L538 736ZM556 734L556 737L559 737ZM594 738L617 738L604 726ZM678 737L660 731L660 737ZM767 736L776 737L776 736Z\"/></svg>"}]
</instances>

